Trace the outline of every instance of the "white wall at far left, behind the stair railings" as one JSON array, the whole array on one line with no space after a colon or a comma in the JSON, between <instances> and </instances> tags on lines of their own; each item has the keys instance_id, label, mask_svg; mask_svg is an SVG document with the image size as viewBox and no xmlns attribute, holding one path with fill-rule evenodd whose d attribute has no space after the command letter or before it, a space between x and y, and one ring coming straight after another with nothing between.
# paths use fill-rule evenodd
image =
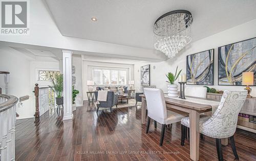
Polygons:
<instances>
[{"instance_id":1,"label":"white wall at far left, behind the stair railings","mask_svg":"<svg viewBox=\"0 0 256 161\"><path fill-rule=\"evenodd\" d=\"M29 95L29 99L17 103L17 119L31 118L35 114L35 83L39 86L51 85L50 82L37 82L36 69L59 69L58 62L35 61L10 47L0 46L0 70L9 71L9 93L17 98ZM5 93L4 75L0 75L0 87Z\"/></svg>"}]
</instances>

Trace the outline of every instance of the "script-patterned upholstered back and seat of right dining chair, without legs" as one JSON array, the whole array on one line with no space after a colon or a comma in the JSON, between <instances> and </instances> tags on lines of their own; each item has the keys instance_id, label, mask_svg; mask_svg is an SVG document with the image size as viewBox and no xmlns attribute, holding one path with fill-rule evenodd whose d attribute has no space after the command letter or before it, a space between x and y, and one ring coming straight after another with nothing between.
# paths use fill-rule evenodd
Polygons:
<instances>
[{"instance_id":1,"label":"script-patterned upholstered back and seat of right dining chair, without legs","mask_svg":"<svg viewBox=\"0 0 256 161\"><path fill-rule=\"evenodd\" d=\"M247 91L224 91L218 109L200 126L212 138L229 138L237 128L238 114L247 97Z\"/></svg>"}]
</instances>

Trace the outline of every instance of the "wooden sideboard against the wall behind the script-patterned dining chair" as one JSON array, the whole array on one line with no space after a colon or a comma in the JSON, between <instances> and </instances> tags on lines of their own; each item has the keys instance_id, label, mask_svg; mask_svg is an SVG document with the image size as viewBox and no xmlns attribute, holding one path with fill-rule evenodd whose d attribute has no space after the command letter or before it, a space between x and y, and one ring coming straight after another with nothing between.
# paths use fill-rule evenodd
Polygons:
<instances>
[{"instance_id":1,"label":"wooden sideboard against the wall behind the script-patterned dining chair","mask_svg":"<svg viewBox=\"0 0 256 161\"><path fill-rule=\"evenodd\" d=\"M221 93L207 93L206 98L215 99L220 101ZM256 97L246 98L244 105L240 111L242 114L256 116ZM238 120L237 128L241 128L250 132L256 133L256 123Z\"/></svg>"}]
</instances>

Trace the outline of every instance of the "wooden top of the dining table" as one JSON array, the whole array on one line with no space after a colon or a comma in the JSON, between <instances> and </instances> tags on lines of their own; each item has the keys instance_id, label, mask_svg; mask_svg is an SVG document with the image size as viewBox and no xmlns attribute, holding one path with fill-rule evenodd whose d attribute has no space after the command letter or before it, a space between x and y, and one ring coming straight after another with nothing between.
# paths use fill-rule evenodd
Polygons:
<instances>
[{"instance_id":1,"label":"wooden top of the dining table","mask_svg":"<svg viewBox=\"0 0 256 161\"><path fill-rule=\"evenodd\" d=\"M139 96L145 98L144 94L140 94ZM173 105L178 105L178 106L181 106L181 107L187 108L187 109L193 109L193 110L197 110L197 111L205 111L205 110L208 110L208 109L212 108L211 105L189 102L189 101L186 101L186 99L185 100L172 99L172 98L167 97L166 94L164 95L164 97L165 97L165 102L166 103L173 104ZM199 97L190 97L190 98L216 101L216 100L213 100L213 99L199 98Z\"/></svg>"}]
</instances>

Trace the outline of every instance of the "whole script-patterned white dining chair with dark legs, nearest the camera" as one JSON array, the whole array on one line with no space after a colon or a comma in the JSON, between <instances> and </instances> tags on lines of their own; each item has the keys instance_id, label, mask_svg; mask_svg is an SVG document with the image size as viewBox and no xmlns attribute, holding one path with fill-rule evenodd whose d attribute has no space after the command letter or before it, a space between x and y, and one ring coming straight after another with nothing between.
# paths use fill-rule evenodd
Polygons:
<instances>
[{"instance_id":1,"label":"whole script-patterned white dining chair with dark legs, nearest the camera","mask_svg":"<svg viewBox=\"0 0 256 161\"><path fill-rule=\"evenodd\" d=\"M218 109L212 116L200 117L199 132L216 139L216 148L219 160L223 160L221 139L229 138L236 159L239 159L234 145L238 114L242 109L247 91L224 91ZM189 127L189 118L181 119L181 145L184 145L184 134Z\"/></svg>"}]
</instances>

